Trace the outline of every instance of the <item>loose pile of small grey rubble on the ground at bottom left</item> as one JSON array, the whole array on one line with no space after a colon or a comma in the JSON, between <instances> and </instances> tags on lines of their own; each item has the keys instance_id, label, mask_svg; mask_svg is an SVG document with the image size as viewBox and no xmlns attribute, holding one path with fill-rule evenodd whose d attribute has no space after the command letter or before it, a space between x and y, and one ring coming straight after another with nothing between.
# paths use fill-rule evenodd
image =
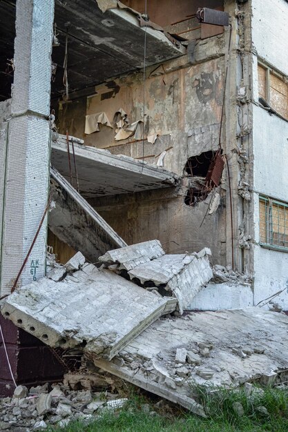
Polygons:
<instances>
[{"instance_id":1,"label":"loose pile of small grey rubble on the ground at bottom left","mask_svg":"<svg viewBox=\"0 0 288 432\"><path fill-rule=\"evenodd\" d=\"M117 398L116 398L117 397ZM46 429L48 424L66 426L73 420L95 422L107 412L125 406L128 399L106 391L70 390L63 384L31 387L17 386L12 397L0 399L0 431L21 426L26 431Z\"/></svg>"}]
</instances>

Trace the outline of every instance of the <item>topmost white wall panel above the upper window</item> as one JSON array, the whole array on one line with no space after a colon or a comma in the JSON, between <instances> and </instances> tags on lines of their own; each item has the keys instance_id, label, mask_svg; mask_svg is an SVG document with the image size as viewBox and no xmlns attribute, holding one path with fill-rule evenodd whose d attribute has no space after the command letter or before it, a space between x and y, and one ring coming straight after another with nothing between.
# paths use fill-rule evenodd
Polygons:
<instances>
[{"instance_id":1,"label":"topmost white wall panel above the upper window","mask_svg":"<svg viewBox=\"0 0 288 432\"><path fill-rule=\"evenodd\" d=\"M252 0L252 41L258 56L288 75L288 1Z\"/></svg>"}]
</instances>

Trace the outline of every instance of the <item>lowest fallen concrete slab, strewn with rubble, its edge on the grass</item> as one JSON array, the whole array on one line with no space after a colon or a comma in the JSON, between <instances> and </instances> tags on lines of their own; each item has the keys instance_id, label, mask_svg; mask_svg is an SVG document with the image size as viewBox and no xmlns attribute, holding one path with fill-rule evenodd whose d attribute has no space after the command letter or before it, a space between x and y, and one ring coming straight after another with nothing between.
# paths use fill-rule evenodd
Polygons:
<instances>
[{"instance_id":1,"label":"lowest fallen concrete slab, strewn with rubble, its edge on the grass","mask_svg":"<svg viewBox=\"0 0 288 432\"><path fill-rule=\"evenodd\" d=\"M202 407L193 400L195 385L231 388L261 382L271 373L285 380L287 328L287 315L257 307L187 313L157 320L111 362L90 360L104 371L202 415Z\"/></svg>"}]
</instances>

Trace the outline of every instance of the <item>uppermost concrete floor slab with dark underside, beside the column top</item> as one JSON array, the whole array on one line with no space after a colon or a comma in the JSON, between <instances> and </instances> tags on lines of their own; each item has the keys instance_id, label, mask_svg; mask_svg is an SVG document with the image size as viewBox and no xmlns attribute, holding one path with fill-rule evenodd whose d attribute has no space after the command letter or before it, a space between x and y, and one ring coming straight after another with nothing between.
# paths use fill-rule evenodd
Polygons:
<instances>
[{"instance_id":1,"label":"uppermost concrete floor slab with dark underside, beside the column top","mask_svg":"<svg viewBox=\"0 0 288 432\"><path fill-rule=\"evenodd\" d=\"M52 95L61 95L63 90L66 37L70 47L69 87L73 90L88 88L91 92L91 87L107 79L143 68L145 32L147 66L185 54L186 48L179 40L157 26L152 28L150 21L142 27L140 13L118 8L117 3L112 6L103 13L96 0L55 2L59 46L52 53L53 62L57 63Z\"/></svg>"}]
</instances>

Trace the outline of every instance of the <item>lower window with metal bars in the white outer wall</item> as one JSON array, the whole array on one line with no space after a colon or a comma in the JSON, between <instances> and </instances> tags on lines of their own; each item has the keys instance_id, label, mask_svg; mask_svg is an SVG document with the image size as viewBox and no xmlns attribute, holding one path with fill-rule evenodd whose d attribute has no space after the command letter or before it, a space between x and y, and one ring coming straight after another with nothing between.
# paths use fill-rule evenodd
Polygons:
<instances>
[{"instance_id":1,"label":"lower window with metal bars in the white outer wall","mask_svg":"<svg viewBox=\"0 0 288 432\"><path fill-rule=\"evenodd\" d=\"M261 246L288 251L288 204L261 196L259 214Z\"/></svg>"}]
</instances>

